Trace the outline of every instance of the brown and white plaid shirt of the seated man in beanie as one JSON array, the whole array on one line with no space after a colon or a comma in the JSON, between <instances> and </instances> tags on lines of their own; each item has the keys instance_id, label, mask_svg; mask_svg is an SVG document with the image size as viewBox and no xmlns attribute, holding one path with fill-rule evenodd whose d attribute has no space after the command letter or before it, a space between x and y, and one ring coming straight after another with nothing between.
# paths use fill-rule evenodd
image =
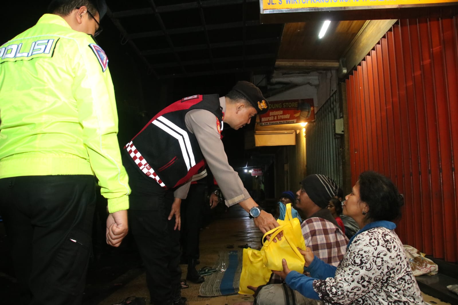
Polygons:
<instances>
[{"instance_id":1,"label":"brown and white plaid shirt of the seated man in beanie","mask_svg":"<svg viewBox=\"0 0 458 305\"><path fill-rule=\"evenodd\" d=\"M302 235L304 235L305 245L310 247L313 254L323 262L337 267L344 257L349 242L342 230L331 221L321 217L305 219L300 227ZM304 274L308 275L308 273ZM280 283L283 283L283 279L272 273L268 284Z\"/></svg>"}]
</instances>

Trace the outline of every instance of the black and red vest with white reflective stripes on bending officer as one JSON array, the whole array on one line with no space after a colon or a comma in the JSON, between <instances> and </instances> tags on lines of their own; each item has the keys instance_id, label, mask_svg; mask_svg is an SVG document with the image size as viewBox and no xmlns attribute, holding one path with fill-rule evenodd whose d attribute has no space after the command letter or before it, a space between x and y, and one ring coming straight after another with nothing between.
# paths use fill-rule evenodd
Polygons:
<instances>
[{"instance_id":1,"label":"black and red vest with white reflective stripes on bending officer","mask_svg":"<svg viewBox=\"0 0 458 305\"><path fill-rule=\"evenodd\" d=\"M196 136L185 124L186 113L193 109L212 112L215 128L221 126L223 112L217 94L188 96L156 114L124 147L139 171L161 187L178 187L205 166Z\"/></svg>"}]
</instances>

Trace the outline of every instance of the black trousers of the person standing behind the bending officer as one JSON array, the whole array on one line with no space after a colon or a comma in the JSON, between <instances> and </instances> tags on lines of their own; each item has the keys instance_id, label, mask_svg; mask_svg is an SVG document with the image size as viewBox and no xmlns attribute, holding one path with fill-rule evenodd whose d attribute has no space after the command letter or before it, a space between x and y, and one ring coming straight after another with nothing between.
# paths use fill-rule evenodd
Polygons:
<instances>
[{"instance_id":1,"label":"black trousers of the person standing behind the bending officer","mask_svg":"<svg viewBox=\"0 0 458 305\"><path fill-rule=\"evenodd\" d=\"M199 258L199 235L206 188L207 185L203 183L191 184L188 196L181 201L181 249L188 260Z\"/></svg>"}]
</instances>

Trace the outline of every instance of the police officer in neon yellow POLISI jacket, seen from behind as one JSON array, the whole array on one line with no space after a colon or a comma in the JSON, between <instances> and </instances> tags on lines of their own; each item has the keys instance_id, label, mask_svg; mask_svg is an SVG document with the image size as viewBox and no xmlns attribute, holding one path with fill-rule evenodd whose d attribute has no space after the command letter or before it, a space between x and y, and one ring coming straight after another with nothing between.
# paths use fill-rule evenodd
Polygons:
<instances>
[{"instance_id":1,"label":"police officer in neon yellow POLISI jacket, seen from behind","mask_svg":"<svg viewBox=\"0 0 458 305\"><path fill-rule=\"evenodd\" d=\"M54 0L49 10L0 46L0 214L22 303L68 305L84 289L94 174L112 246L127 234L130 188L108 59L91 37L104 0Z\"/></svg>"}]
</instances>

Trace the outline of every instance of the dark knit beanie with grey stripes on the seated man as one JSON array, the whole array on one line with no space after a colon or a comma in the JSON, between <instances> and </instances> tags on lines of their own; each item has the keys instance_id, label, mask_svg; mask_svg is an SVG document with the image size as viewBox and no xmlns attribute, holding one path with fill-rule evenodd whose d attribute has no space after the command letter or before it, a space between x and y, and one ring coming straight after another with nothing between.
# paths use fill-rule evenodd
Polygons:
<instances>
[{"instance_id":1,"label":"dark knit beanie with grey stripes on the seated man","mask_svg":"<svg viewBox=\"0 0 458 305\"><path fill-rule=\"evenodd\" d=\"M300 182L311 201L321 208L326 208L329 200L337 195L337 183L325 175L308 175Z\"/></svg>"}]
</instances>

